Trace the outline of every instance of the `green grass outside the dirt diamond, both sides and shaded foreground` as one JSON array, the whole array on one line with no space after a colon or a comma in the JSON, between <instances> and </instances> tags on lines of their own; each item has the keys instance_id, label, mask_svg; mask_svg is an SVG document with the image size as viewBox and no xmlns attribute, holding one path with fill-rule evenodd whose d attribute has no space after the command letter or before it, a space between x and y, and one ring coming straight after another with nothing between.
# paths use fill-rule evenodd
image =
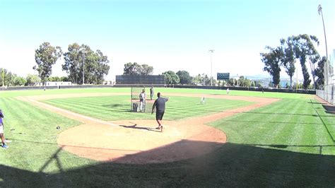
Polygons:
<instances>
[{"instance_id":1,"label":"green grass outside the dirt diamond, both sides and shaded foreground","mask_svg":"<svg viewBox=\"0 0 335 188\"><path fill-rule=\"evenodd\" d=\"M228 135L228 143L217 151L189 160L151 165L99 163L62 151L57 146L57 134L79 123L12 97L125 90L127 88L0 93L0 107L6 115L6 137L12 140L8 143L10 148L0 150L0 187L335 186L335 115L326 113L312 95L264 93L282 100L211 123ZM187 91L225 94L224 90L172 88L162 92ZM233 90L230 94L263 95ZM82 99L68 100L75 103ZM199 99L194 100L199 102ZM112 99L109 102L114 104ZM182 107L175 105L178 103L173 104L171 100L167 107L175 107L175 112L184 114ZM98 109L105 110L104 107ZM174 117L172 112L170 115ZM61 129L56 129L57 125ZM88 136L88 139L91 138Z\"/></svg>"}]
</instances>

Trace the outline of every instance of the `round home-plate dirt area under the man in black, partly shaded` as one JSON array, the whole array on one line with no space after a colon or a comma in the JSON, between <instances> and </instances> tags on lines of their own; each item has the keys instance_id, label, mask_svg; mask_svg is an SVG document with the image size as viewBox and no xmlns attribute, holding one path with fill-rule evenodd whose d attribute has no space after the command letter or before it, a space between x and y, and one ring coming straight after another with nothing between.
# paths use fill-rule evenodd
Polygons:
<instances>
[{"instance_id":1,"label":"round home-plate dirt area under the man in black, partly shaded","mask_svg":"<svg viewBox=\"0 0 335 188\"><path fill-rule=\"evenodd\" d=\"M209 153L226 141L222 131L204 124L155 120L122 120L83 124L59 134L64 150L84 158L116 163L165 163Z\"/></svg>"}]
</instances>

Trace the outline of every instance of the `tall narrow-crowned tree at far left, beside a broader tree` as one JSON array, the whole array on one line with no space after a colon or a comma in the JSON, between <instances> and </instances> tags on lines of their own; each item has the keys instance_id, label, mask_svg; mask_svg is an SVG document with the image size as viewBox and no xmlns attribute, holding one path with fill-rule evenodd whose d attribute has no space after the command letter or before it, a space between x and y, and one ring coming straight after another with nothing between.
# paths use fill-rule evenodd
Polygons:
<instances>
[{"instance_id":1,"label":"tall narrow-crowned tree at far left, beside a broader tree","mask_svg":"<svg viewBox=\"0 0 335 188\"><path fill-rule=\"evenodd\" d=\"M45 84L47 78L52 74L52 66L56 64L57 59L61 57L61 47L53 47L49 42L43 42L35 50L36 64L33 69L38 71L42 83Z\"/></svg>"}]
</instances>

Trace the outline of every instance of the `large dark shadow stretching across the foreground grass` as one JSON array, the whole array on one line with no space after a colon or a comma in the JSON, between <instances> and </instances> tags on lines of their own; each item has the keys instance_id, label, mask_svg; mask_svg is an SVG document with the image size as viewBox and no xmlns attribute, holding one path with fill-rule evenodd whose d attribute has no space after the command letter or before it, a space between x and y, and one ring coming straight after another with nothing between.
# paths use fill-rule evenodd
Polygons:
<instances>
[{"instance_id":1,"label":"large dark shadow stretching across the foreground grass","mask_svg":"<svg viewBox=\"0 0 335 188\"><path fill-rule=\"evenodd\" d=\"M209 143L180 141L125 158L158 155L175 144L206 148ZM213 144L213 143L211 143ZM172 163L122 164L116 162L33 172L0 165L1 187L334 187L335 155L295 153L257 144L225 143L216 151ZM286 145L265 145L285 148ZM172 147L172 148L171 148ZM316 147L316 146L295 146ZM317 146L319 147L319 146ZM331 146L334 147L334 146ZM58 160L56 151L50 160ZM170 151L182 152L182 151ZM120 160L125 160L125 158ZM42 167L46 166L47 161ZM61 166L61 165L59 165ZM24 166L22 168L25 168Z\"/></svg>"}]
</instances>

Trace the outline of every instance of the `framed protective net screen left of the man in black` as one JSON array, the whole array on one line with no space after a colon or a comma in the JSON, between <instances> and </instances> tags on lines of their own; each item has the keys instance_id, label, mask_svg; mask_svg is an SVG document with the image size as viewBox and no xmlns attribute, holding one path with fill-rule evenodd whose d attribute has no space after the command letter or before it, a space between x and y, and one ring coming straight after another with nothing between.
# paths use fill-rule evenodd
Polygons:
<instances>
[{"instance_id":1,"label":"framed protective net screen left of the man in black","mask_svg":"<svg viewBox=\"0 0 335 188\"><path fill-rule=\"evenodd\" d=\"M151 113L155 100L151 100L150 88L149 86L131 87L131 112ZM144 94L141 94L143 90ZM143 100L141 100L141 98L143 98Z\"/></svg>"}]
</instances>

